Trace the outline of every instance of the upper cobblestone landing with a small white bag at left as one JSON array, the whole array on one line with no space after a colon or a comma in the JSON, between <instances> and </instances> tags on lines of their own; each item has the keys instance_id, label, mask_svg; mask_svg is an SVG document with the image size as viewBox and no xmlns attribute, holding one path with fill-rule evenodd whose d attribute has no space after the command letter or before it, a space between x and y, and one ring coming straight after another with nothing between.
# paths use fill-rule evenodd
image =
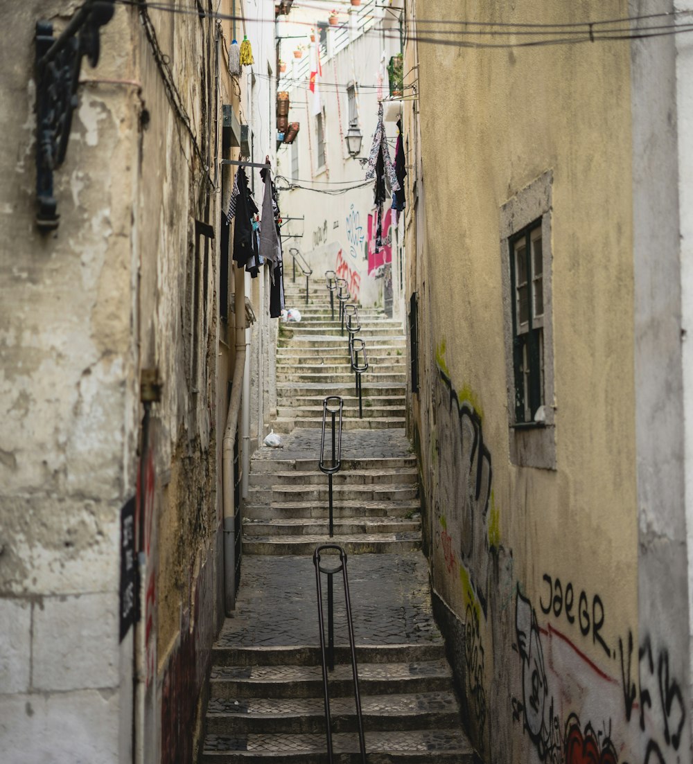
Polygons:
<instances>
[{"instance_id":1,"label":"upper cobblestone landing with a small white bag at left","mask_svg":"<svg viewBox=\"0 0 693 764\"><path fill-rule=\"evenodd\" d=\"M387 434L384 434L387 433ZM320 456L322 431L295 429L280 435L282 448L261 446L254 459L317 459ZM413 455L404 429L344 430L342 432L342 459L404 458Z\"/></svg>"}]
</instances>

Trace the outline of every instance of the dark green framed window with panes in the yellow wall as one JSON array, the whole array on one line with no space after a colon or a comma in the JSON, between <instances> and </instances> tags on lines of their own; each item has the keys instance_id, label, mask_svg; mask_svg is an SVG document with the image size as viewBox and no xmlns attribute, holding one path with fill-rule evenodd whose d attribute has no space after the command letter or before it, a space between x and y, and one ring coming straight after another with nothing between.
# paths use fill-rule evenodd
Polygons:
<instances>
[{"instance_id":1,"label":"dark green framed window with panes in the yellow wall","mask_svg":"<svg viewBox=\"0 0 693 764\"><path fill-rule=\"evenodd\" d=\"M536 425L544 406L544 293L542 222L530 223L509 239L513 305L515 423Z\"/></svg>"}]
</instances>

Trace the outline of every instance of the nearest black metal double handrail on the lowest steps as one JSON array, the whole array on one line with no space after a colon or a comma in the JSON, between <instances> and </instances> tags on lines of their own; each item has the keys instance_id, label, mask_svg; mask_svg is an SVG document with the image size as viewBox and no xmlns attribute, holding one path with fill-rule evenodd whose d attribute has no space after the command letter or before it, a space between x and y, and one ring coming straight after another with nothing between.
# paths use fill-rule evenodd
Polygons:
<instances>
[{"instance_id":1,"label":"nearest black metal double handrail on the lowest steps","mask_svg":"<svg viewBox=\"0 0 693 764\"><path fill-rule=\"evenodd\" d=\"M323 568L320 565L320 552L332 549L339 554L339 565L337 568ZM364 737L364 720L361 714L361 694L358 691L358 667L356 665L356 647L354 640L354 621L351 617L351 600L349 598L349 579L347 575L346 562L347 555L344 549L337 544L323 544L319 546L312 555L313 565L316 566L316 588L318 594L318 623L320 630L320 656L322 658L322 686L325 692L325 729L327 733L327 755L329 764L334 762L334 753L332 750L332 720L329 711L329 685L327 681L328 659L330 671L335 668L335 620L334 620L334 597L332 596L332 577L335 573L342 571L344 581L344 601L346 608L347 627L349 633L349 648L351 650L351 675L354 677L354 700L356 704L356 718L358 721L358 745L361 749L361 762L366 764L366 740ZM327 589L327 617L328 617L328 639L329 652L325 655L325 617L322 613L322 581L321 573L326 573Z\"/></svg>"}]
</instances>

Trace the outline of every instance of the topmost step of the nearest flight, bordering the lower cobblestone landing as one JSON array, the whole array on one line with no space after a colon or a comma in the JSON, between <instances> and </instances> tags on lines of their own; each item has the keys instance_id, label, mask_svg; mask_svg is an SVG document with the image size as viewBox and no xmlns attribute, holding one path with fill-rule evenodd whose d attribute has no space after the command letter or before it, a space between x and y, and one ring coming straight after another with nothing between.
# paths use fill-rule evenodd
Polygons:
<instances>
[{"instance_id":1,"label":"topmost step of the nearest flight, bordering the lower cobblestone landing","mask_svg":"<svg viewBox=\"0 0 693 764\"><path fill-rule=\"evenodd\" d=\"M316 617L317 624L317 617ZM317 626L316 626L317 628ZM340 642L335 633L335 662L351 662L348 643ZM356 660L361 663L412 663L445 659L445 643L402 643L394 645L357 645ZM277 666L320 665L320 648L313 645L299 646L233 646L219 641L212 648L212 665L224 666Z\"/></svg>"}]
</instances>

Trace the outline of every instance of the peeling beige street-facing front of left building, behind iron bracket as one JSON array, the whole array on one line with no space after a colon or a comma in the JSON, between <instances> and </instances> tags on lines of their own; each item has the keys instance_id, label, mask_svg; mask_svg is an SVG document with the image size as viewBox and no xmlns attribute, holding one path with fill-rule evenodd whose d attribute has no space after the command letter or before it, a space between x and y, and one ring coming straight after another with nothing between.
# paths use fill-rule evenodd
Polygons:
<instances>
[{"instance_id":1,"label":"peeling beige street-facing front of left building, behind iron bracket","mask_svg":"<svg viewBox=\"0 0 693 764\"><path fill-rule=\"evenodd\" d=\"M118 645L119 518L134 494L132 178L137 89L120 8L83 77L60 228L34 225L34 24L76 2L2 3L0 748L131 760L131 635Z\"/></svg>"}]
</instances>

